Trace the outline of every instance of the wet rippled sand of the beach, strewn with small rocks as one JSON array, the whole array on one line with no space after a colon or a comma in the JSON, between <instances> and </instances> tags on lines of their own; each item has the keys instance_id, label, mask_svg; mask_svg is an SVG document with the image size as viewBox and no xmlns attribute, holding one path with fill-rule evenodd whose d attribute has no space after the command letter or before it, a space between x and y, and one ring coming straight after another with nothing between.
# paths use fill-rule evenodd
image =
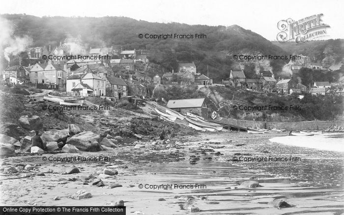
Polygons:
<instances>
[{"instance_id":1,"label":"wet rippled sand of the beach, strewn with small rocks","mask_svg":"<svg viewBox=\"0 0 344 215\"><path fill-rule=\"evenodd\" d=\"M127 214L188 214L184 208L185 196L189 196L193 198L192 204L200 209L192 214L342 214L344 154L269 141L281 135L286 134L205 133L171 139L169 149L123 146L109 152L77 155L111 158L102 162L42 161L42 156L74 156L66 153L12 157L4 161L40 166L37 170L22 170L12 175L1 172L0 204L105 206L124 200ZM232 160L234 156L296 156L301 161L238 162ZM81 173L61 175L71 165ZM103 181L122 187L84 185L83 176L98 176L105 167L115 168L118 175ZM30 176L38 171L45 176ZM30 177L15 179L28 176L25 174ZM245 180L256 180L263 187L242 188L237 184ZM139 188L140 184L172 184L172 189ZM174 184L194 188L174 188ZM196 184L206 188L195 188ZM69 198L80 189L91 192L92 197ZM60 200L53 200L55 196ZM159 198L166 201L158 201ZM274 198L283 198L294 207L279 210L269 203Z\"/></svg>"}]
</instances>

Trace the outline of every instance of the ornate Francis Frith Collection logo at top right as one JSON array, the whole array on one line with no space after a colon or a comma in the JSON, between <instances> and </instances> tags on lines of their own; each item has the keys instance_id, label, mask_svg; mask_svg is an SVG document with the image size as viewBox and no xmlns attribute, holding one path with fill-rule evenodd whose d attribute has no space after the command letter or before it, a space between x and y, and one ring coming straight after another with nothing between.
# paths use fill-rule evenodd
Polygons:
<instances>
[{"instance_id":1,"label":"ornate Francis Frith Collection logo at top right","mask_svg":"<svg viewBox=\"0 0 344 215\"><path fill-rule=\"evenodd\" d=\"M323 14L316 14L305 17L298 21L291 18L281 20L277 27L281 32L277 34L277 41L280 43L295 41L296 43L304 43L315 38L327 36L326 28L330 27L322 23Z\"/></svg>"}]
</instances>

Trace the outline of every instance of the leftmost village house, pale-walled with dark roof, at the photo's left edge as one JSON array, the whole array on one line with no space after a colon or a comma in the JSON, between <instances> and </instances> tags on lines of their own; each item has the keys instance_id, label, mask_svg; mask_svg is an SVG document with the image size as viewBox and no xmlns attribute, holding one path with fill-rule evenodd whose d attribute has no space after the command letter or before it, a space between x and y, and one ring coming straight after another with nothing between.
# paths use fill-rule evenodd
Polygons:
<instances>
[{"instance_id":1,"label":"leftmost village house, pale-walled with dark roof, at the photo's left edge","mask_svg":"<svg viewBox=\"0 0 344 215\"><path fill-rule=\"evenodd\" d=\"M2 79L14 84L30 82L29 75L24 66L8 66L2 74Z\"/></svg>"}]
</instances>

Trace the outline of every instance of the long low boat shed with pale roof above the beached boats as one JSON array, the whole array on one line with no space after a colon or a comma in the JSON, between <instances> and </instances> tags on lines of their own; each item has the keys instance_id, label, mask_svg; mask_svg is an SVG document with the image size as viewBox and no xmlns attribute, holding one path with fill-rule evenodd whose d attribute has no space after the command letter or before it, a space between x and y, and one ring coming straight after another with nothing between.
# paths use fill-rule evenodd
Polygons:
<instances>
[{"instance_id":1,"label":"long low boat shed with pale roof above the beached boats","mask_svg":"<svg viewBox=\"0 0 344 215\"><path fill-rule=\"evenodd\" d=\"M182 114L190 112L204 118L208 117L208 106L204 98L169 100L166 108L170 108Z\"/></svg>"}]
</instances>

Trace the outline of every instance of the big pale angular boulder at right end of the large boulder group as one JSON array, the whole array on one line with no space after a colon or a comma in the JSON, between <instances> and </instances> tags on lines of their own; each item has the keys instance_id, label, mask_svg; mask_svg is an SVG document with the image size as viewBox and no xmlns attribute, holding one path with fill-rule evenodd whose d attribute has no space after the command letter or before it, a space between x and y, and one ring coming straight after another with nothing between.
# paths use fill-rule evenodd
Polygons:
<instances>
[{"instance_id":1,"label":"big pale angular boulder at right end of the large boulder group","mask_svg":"<svg viewBox=\"0 0 344 215\"><path fill-rule=\"evenodd\" d=\"M102 150L99 144L99 138L99 134L82 132L70 137L68 144L77 147L81 151L97 152Z\"/></svg>"}]
</instances>

